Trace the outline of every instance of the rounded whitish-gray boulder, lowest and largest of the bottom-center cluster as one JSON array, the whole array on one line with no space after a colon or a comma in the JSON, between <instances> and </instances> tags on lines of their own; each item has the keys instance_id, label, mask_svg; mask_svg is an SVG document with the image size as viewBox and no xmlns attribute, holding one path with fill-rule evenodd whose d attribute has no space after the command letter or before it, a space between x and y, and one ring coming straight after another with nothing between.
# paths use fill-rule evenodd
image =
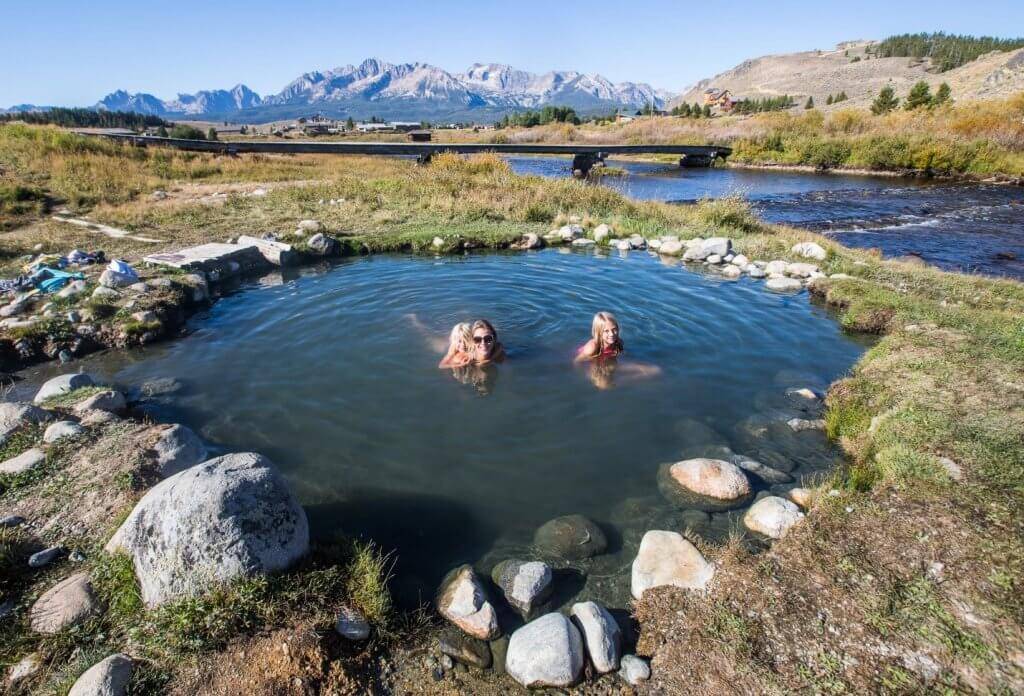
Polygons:
<instances>
[{"instance_id":1,"label":"rounded whitish-gray boulder, lowest and largest of the bottom-center cluster","mask_svg":"<svg viewBox=\"0 0 1024 696\"><path fill-rule=\"evenodd\" d=\"M545 614L509 640L505 670L526 688L567 687L583 671L583 639L559 613Z\"/></svg>"}]
</instances>

